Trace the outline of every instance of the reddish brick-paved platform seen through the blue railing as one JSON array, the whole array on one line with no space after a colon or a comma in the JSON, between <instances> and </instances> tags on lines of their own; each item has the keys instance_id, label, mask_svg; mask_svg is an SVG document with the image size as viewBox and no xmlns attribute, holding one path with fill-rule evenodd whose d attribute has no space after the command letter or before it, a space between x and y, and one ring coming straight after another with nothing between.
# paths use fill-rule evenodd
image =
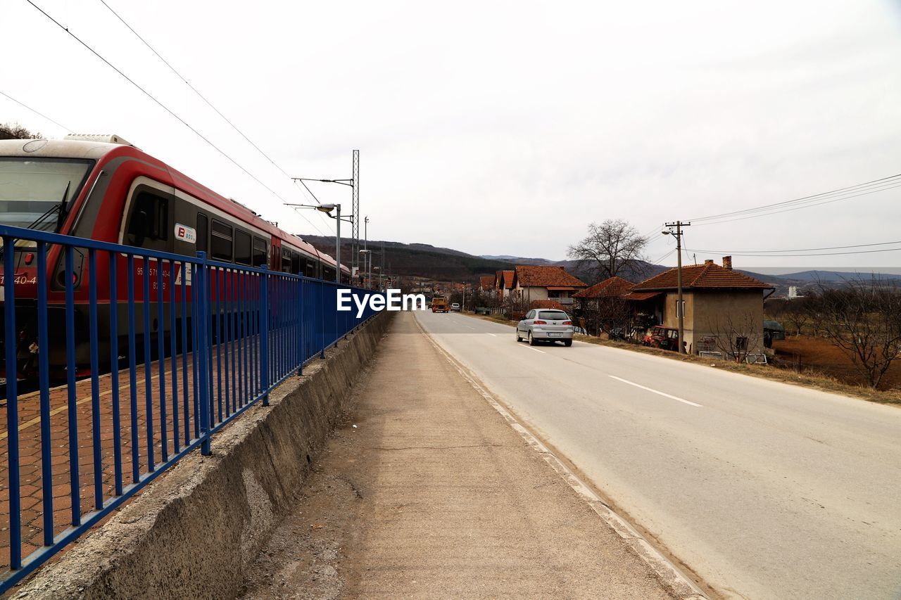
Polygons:
<instances>
[{"instance_id":1,"label":"reddish brick-paved platform seen through the blue railing","mask_svg":"<svg viewBox=\"0 0 901 600\"><path fill-rule=\"evenodd\" d=\"M259 382L257 373L250 372L253 362L245 363L242 359L245 352L250 352L251 342L241 347L241 343L223 344L222 348L214 346L212 359L213 386L211 398L214 403L214 422L219 422L219 410L225 411L225 402L233 408L233 386L243 389L239 398L239 406L246 404L251 398L250 390L253 388L253 380ZM221 351L221 352L220 352ZM219 363L222 355L222 385L220 386ZM232 361L232 356L240 360ZM234 362L239 363L235 369ZM193 357L187 355L187 432L190 439L196 438L197 415L194 404L194 377ZM186 438L185 423L185 388L183 375L182 355L177 356L177 411L178 411L178 448L184 448ZM225 380L226 367L228 379ZM138 421L138 464L141 475L149 472L148 458L148 433L147 433L147 396L145 393L146 377L144 364L141 363L135 370L137 392ZM165 359L165 391L166 391L166 452L171 456L176 451L176 442L173 440L173 382L171 359ZM101 448L101 473L103 482L103 501L109 501L114 497L114 423L113 423L113 387L114 375L106 374L99 378L99 405L100 405L100 448ZM118 373L120 423L121 423L121 452L123 486L132 483L132 400L129 384L129 368L123 368ZM153 422L153 461L159 467L164 461L162 458L162 436L160 434L160 385L159 363L150 363L150 382L152 389L152 406L150 418ZM76 413L77 413L77 450L78 450L78 496L81 503L82 515L95 510L95 482L94 482L94 428L92 423L93 402L91 394L91 379L81 379L75 385ZM41 485L41 413L40 393L30 392L19 395L19 465L20 465L20 496L22 506L22 556L41 547L43 542L43 495ZM72 524L71 484L69 473L69 448L75 440L68 432L68 386L59 386L50 389L50 441L52 465L52 498L53 498L53 532L59 535ZM0 568L9 567L10 550L10 508L9 508L9 455L8 455L8 426L5 408L0 408Z\"/></svg>"}]
</instances>

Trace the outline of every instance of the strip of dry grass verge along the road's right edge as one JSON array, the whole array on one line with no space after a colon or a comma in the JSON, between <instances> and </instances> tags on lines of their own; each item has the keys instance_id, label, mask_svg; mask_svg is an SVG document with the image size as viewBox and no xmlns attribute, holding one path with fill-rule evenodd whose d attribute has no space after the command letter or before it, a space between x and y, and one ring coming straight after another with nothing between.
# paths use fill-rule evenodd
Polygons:
<instances>
[{"instance_id":1,"label":"strip of dry grass verge along the road's right edge","mask_svg":"<svg viewBox=\"0 0 901 600\"><path fill-rule=\"evenodd\" d=\"M515 326L512 321L507 321L503 317L484 314L468 314L475 316L477 319L484 319L494 323L503 323L505 325ZM791 368L778 368L773 365L745 365L738 364L729 360L702 359L694 355L679 355L670 350L660 350L659 348L650 348L648 346L640 346L625 341L602 340L591 335L576 335L576 340L585 341L589 344L598 346L608 346L610 348L619 348L621 350L631 350L633 352L642 352L653 356L660 356L664 359L681 360L683 362L692 362L707 368L717 368L720 370L730 371L732 373L741 373L742 375L750 375L751 377L760 377L770 379L772 381L780 381L782 383L792 384L795 386L811 387L824 392L833 392L834 394L850 395L870 402L878 402L885 405L901 406L901 389L893 389L879 391L871 389L867 386L853 386L842 383L839 379L831 377L815 369L804 369L801 373L796 373Z\"/></svg>"}]
</instances>

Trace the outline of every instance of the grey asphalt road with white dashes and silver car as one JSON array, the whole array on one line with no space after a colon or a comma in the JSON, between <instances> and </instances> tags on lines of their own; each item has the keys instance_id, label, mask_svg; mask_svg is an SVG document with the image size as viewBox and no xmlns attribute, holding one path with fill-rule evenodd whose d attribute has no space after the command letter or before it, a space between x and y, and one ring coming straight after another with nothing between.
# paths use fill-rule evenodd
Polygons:
<instances>
[{"instance_id":1,"label":"grey asphalt road with white dashes and silver car","mask_svg":"<svg viewBox=\"0 0 901 600\"><path fill-rule=\"evenodd\" d=\"M417 312L435 341L722 595L901 597L901 409Z\"/></svg>"}]
</instances>

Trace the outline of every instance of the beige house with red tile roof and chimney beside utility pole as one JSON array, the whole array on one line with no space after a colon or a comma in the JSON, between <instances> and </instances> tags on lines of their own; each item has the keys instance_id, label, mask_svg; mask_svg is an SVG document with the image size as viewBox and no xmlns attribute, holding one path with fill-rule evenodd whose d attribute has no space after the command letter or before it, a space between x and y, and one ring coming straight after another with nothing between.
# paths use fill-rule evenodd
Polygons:
<instances>
[{"instance_id":1,"label":"beige house with red tile roof and chimney beside utility pole","mask_svg":"<svg viewBox=\"0 0 901 600\"><path fill-rule=\"evenodd\" d=\"M682 268L679 307L677 276L678 269L670 268L636 284L625 298L652 301L655 322L666 327L678 327L678 314L684 311L683 345L689 353L763 352L763 300L774 286L734 270L732 257L723 257L722 266L705 260Z\"/></svg>"}]
</instances>

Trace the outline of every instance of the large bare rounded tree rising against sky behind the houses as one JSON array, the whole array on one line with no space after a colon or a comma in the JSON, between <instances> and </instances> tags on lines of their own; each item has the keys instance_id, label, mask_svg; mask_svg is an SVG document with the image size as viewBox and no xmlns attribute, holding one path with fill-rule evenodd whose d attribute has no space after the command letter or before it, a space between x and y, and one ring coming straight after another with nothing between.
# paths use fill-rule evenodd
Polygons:
<instances>
[{"instance_id":1,"label":"large bare rounded tree rising against sky behind the houses","mask_svg":"<svg viewBox=\"0 0 901 600\"><path fill-rule=\"evenodd\" d=\"M570 246L567 255L578 261L578 268L591 268L600 281L626 271L643 272L642 250L647 243L629 223L607 219L589 224L587 237Z\"/></svg>"}]
</instances>

